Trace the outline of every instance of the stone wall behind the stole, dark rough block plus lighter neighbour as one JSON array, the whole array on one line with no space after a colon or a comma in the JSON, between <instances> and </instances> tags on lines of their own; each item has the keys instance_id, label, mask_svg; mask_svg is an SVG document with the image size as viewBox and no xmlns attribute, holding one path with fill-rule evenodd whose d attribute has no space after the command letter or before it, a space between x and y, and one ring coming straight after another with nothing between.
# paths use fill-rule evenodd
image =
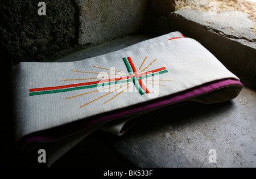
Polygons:
<instances>
[{"instance_id":1,"label":"stone wall behind the stole, dark rough block plus lighter neighbour","mask_svg":"<svg viewBox=\"0 0 256 179\"><path fill-rule=\"evenodd\" d=\"M51 62L75 46L98 44L139 31L148 0L2 0L0 50L11 66Z\"/></svg>"}]
</instances>

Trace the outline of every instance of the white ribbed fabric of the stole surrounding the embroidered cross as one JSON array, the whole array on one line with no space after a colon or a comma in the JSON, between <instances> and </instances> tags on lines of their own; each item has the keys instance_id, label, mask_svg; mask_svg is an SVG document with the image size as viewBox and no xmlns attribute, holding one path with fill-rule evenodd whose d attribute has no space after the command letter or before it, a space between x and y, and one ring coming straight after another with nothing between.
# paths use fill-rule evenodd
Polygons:
<instances>
[{"instance_id":1,"label":"white ribbed fabric of the stole surrounding the embroidered cross","mask_svg":"<svg viewBox=\"0 0 256 179\"><path fill-rule=\"evenodd\" d=\"M123 82L122 84L105 85L104 87L67 90L75 88L72 86L73 84L100 80L93 79L100 77L100 75L102 76L102 74L97 73L105 73L106 79L129 76L127 66L123 61L124 57L131 57L139 74L162 67L168 72L142 79L144 86L150 91L150 93L145 93L144 95L138 92L133 80L129 84ZM144 61L145 58L146 60ZM139 70L140 67L141 70ZM106 69L111 69L112 71ZM142 71L143 69L146 70ZM184 38L180 32L169 33L117 52L82 61L63 63L22 62L13 68L13 76L17 140L38 131L67 125L71 122L84 120L117 109L122 110L123 108L147 103L160 97L175 95L178 92L183 92L202 84L222 79L239 80L199 42ZM88 86L88 84L86 85ZM57 90L67 91L56 92L55 87L61 87ZM123 91L127 87L129 88ZM108 89L102 90L105 88ZM118 88L120 89L118 90ZM40 90L36 91L36 89ZM241 90L241 87L239 89ZM44 93L46 91L55 92ZM41 94L40 92L43 93ZM195 100L203 101L202 99ZM210 103L210 101L205 103ZM111 125L101 127L101 129L119 135L123 125L136 116L137 114L133 114L131 117L123 118ZM97 125L93 130L102 124ZM88 133L91 131L89 130ZM84 132L82 135L84 137L87 133ZM69 143L73 143L71 145L73 146L83 137L77 138L77 140L72 138ZM61 143L60 146L65 145ZM59 155L57 156L60 157L69 148L71 147L59 150L60 152L58 152ZM51 161L51 164L59 157L52 157L54 160Z\"/></svg>"}]
</instances>

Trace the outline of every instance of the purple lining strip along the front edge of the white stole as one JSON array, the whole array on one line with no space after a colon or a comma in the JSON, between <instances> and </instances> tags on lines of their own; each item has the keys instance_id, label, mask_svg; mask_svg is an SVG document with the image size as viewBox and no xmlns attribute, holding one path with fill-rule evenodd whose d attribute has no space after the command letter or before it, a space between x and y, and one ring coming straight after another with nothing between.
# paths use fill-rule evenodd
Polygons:
<instances>
[{"instance_id":1,"label":"purple lining strip along the front edge of the white stole","mask_svg":"<svg viewBox=\"0 0 256 179\"><path fill-rule=\"evenodd\" d=\"M82 121L81 125L75 126L75 130L72 130L71 129L72 127L69 127L67 131L61 131L59 135L56 133L57 130L55 130L53 132L53 134L55 136L49 135L49 134L42 135L42 133L44 133L45 131L39 131L34 134L29 134L29 135L23 137L22 139L20 139L19 144L26 144L26 143L30 143L30 142L39 142L39 141L57 140L57 139L71 135L71 134L75 133L76 131L85 129L88 126L92 126L99 122L104 122L104 121L112 120L114 118L119 118L119 117L123 117L123 116L128 116L130 114L139 113L144 110L154 109L154 108L158 108L160 106L177 103L181 100L189 99L194 96L202 95L203 93L207 93L207 92L210 92L213 90L217 90L219 88L232 86L232 85L243 86L243 84L240 83L238 80L232 80L232 79L226 79L226 80L214 82L214 83L208 84L206 86L199 86L199 87L193 88L193 90L184 91L183 93L179 93L179 95L171 95L167 99L163 99L160 101L149 101L148 103L144 103L142 105L139 105L139 106L127 109L127 110L115 112L112 114L108 113L108 114L106 114L106 116L98 117L95 120Z\"/></svg>"}]
</instances>

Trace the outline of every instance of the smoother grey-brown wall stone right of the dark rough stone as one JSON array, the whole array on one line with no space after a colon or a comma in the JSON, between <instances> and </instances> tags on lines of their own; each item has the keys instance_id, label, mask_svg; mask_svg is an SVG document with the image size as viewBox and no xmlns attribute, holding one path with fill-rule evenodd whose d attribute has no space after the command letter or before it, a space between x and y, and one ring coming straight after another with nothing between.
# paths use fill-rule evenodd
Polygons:
<instances>
[{"instance_id":1,"label":"smoother grey-brown wall stone right of the dark rough stone","mask_svg":"<svg viewBox=\"0 0 256 179\"><path fill-rule=\"evenodd\" d=\"M77 0L79 44L98 44L142 28L147 0Z\"/></svg>"}]
</instances>

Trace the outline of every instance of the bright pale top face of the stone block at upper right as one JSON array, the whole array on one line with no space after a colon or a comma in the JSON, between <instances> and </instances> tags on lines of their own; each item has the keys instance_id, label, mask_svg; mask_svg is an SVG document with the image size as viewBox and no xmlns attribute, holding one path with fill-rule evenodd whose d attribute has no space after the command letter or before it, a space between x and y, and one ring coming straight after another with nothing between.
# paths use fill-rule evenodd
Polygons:
<instances>
[{"instance_id":1,"label":"bright pale top face of the stone block at upper right","mask_svg":"<svg viewBox=\"0 0 256 179\"><path fill-rule=\"evenodd\" d=\"M256 42L256 36L250 29L253 28L253 22L248 19L249 14L242 11L224 11L216 13L216 15L212 13L189 9L175 11L175 14L205 25L205 27L223 36Z\"/></svg>"}]
</instances>

